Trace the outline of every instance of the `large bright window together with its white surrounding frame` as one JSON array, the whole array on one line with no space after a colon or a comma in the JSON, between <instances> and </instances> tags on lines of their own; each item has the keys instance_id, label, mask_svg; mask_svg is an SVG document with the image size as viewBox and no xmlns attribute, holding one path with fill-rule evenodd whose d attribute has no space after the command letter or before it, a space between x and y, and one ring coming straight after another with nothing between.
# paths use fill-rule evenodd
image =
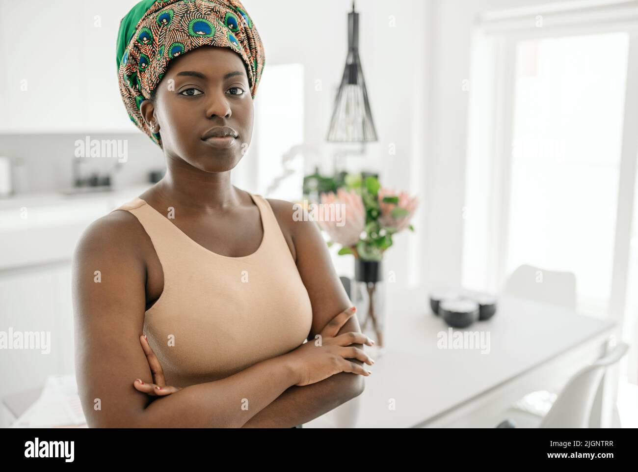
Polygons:
<instances>
[{"instance_id":1,"label":"large bright window together with its white surrounding frame","mask_svg":"<svg viewBox=\"0 0 638 472\"><path fill-rule=\"evenodd\" d=\"M636 383L638 3L540 10L486 13L473 36L462 284L574 273L577 309L632 345Z\"/></svg>"}]
</instances>

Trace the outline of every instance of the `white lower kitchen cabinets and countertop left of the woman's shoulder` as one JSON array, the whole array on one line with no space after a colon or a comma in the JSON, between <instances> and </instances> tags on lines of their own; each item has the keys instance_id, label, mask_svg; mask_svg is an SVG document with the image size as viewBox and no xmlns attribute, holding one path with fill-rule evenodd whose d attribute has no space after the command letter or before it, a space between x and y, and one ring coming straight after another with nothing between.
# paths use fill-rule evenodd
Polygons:
<instances>
[{"instance_id":1,"label":"white lower kitchen cabinets and countertop left of the woman's shoulder","mask_svg":"<svg viewBox=\"0 0 638 472\"><path fill-rule=\"evenodd\" d=\"M94 220L150 187L13 197L0 206L0 331L49 333L50 352L0 349L0 398L75 371L71 257ZM26 209L27 218L20 215ZM0 418L0 427L3 427ZM6 426L6 425L4 425Z\"/></svg>"}]
</instances>

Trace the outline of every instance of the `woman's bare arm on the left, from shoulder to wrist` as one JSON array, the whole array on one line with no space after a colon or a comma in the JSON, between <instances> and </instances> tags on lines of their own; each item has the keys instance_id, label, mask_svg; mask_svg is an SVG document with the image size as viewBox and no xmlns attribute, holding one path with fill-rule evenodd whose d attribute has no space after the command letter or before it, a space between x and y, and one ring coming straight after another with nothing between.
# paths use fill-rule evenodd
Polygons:
<instances>
[{"instance_id":1,"label":"woman's bare arm on the left, from shoulder to wrist","mask_svg":"<svg viewBox=\"0 0 638 472\"><path fill-rule=\"evenodd\" d=\"M86 229L73 255L75 367L89 427L242 427L299 383L289 354L152 402L133 387L136 378L152 381L139 342L146 306L140 247L148 236L135 224L133 215L110 213Z\"/></svg>"}]
</instances>

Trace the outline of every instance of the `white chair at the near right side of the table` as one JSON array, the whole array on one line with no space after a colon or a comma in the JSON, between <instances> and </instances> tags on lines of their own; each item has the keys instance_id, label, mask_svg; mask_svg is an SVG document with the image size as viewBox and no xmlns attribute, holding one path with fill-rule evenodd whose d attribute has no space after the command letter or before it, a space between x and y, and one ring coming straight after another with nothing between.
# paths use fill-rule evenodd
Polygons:
<instances>
[{"instance_id":1,"label":"white chair at the near right side of the table","mask_svg":"<svg viewBox=\"0 0 638 472\"><path fill-rule=\"evenodd\" d=\"M556 397L549 411L544 416L537 417L535 425L533 416L528 413L528 418L523 418L527 426L539 428L586 428L590 422L591 407L593 406L598 386L602 381L607 367L618 362L626 353L629 346L621 342L603 358L598 359L591 365L587 365L579 370L565 385L561 393ZM519 420L524 413L519 409L510 409L505 413L507 420L499 423L497 428L514 428L516 420L512 420L512 415L517 415Z\"/></svg>"}]
</instances>

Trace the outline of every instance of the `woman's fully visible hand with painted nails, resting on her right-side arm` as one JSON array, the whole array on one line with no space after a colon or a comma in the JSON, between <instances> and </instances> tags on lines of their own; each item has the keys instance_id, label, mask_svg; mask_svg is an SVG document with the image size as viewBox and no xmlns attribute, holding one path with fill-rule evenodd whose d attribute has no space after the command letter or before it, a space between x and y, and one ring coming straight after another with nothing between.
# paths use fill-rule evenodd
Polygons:
<instances>
[{"instance_id":1,"label":"woman's fully visible hand with painted nails, resting on her right-side arm","mask_svg":"<svg viewBox=\"0 0 638 472\"><path fill-rule=\"evenodd\" d=\"M357 359L373 365L375 361L362 349L350 344L372 346L374 342L366 335L354 331L337 336L341 327L356 311L357 308L352 307L339 313L323 328L319 339L304 342L297 349L286 354L292 356L294 365L299 370L301 381L296 385L304 386L320 382L339 372L351 372L363 376L371 374L369 370L348 359Z\"/></svg>"}]
</instances>

